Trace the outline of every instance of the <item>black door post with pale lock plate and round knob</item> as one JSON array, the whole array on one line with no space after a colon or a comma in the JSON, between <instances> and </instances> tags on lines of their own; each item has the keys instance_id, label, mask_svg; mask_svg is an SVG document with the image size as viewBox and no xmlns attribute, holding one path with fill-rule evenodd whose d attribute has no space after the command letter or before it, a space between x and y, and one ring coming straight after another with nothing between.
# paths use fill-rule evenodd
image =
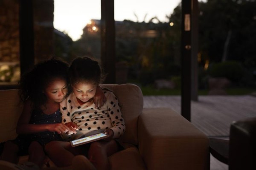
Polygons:
<instances>
[{"instance_id":1,"label":"black door post with pale lock plate and round knob","mask_svg":"<svg viewBox=\"0 0 256 170\"><path fill-rule=\"evenodd\" d=\"M191 1L181 1L181 115L189 121L191 119Z\"/></svg>"}]
</instances>

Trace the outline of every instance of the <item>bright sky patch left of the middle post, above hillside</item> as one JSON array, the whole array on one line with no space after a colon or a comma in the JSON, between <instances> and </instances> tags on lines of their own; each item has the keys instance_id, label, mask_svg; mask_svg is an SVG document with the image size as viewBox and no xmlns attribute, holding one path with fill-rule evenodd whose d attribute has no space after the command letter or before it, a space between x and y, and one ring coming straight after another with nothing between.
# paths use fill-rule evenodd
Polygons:
<instances>
[{"instance_id":1,"label":"bright sky patch left of the middle post, above hillside","mask_svg":"<svg viewBox=\"0 0 256 170\"><path fill-rule=\"evenodd\" d=\"M100 0L54 0L54 28L76 41L91 19L101 19L100 10Z\"/></svg>"}]
</instances>

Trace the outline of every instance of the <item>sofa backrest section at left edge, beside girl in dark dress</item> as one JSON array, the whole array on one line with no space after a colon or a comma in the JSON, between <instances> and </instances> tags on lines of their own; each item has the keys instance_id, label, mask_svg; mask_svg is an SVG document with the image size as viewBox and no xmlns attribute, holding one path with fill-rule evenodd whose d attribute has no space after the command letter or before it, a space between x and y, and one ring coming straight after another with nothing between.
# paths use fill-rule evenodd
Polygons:
<instances>
[{"instance_id":1,"label":"sofa backrest section at left edge, beside girl in dark dress","mask_svg":"<svg viewBox=\"0 0 256 170\"><path fill-rule=\"evenodd\" d=\"M22 107L16 89L0 90L0 142L17 136L16 125Z\"/></svg>"}]
</instances>

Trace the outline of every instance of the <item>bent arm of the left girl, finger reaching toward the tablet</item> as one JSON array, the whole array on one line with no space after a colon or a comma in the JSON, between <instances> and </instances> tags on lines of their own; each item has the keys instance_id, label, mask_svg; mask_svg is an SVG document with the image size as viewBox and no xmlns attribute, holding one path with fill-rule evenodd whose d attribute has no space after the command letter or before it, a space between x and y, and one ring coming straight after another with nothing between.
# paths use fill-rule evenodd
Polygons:
<instances>
[{"instance_id":1,"label":"bent arm of the left girl, finger reaching toward the tablet","mask_svg":"<svg viewBox=\"0 0 256 170\"><path fill-rule=\"evenodd\" d=\"M66 133L69 129L63 123L56 123L56 124L42 124L42 125L34 125L29 124L30 117L32 113L31 108L31 101L27 100L24 103L23 111L20 115L20 118L17 123L16 132L18 134L31 134L31 133L38 133L44 131L51 131L57 133Z\"/></svg>"}]
</instances>

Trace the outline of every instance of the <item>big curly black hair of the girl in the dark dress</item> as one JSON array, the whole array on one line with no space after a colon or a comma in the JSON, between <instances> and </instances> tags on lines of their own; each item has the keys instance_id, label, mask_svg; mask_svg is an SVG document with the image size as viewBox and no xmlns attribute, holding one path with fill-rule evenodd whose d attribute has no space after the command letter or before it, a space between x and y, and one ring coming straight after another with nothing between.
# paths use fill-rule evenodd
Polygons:
<instances>
[{"instance_id":1,"label":"big curly black hair of the girl in the dark dress","mask_svg":"<svg viewBox=\"0 0 256 170\"><path fill-rule=\"evenodd\" d=\"M24 73L20 78L21 101L31 100L34 108L45 105L47 96L43 92L49 82L55 78L61 78L69 85L68 68L69 65L66 62L54 58L36 64L31 71Z\"/></svg>"}]
</instances>

